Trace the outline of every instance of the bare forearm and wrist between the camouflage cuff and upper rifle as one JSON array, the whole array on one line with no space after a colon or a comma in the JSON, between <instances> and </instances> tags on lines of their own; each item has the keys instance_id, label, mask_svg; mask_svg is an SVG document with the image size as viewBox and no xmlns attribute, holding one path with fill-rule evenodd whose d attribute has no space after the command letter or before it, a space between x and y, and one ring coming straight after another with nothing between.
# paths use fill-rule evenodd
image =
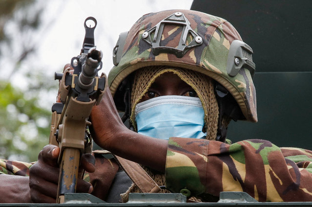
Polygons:
<instances>
[{"instance_id":1,"label":"bare forearm and wrist between the camouflage cuff and upper rifle","mask_svg":"<svg viewBox=\"0 0 312 207\"><path fill-rule=\"evenodd\" d=\"M118 115L110 91L106 90L101 104L93 107L91 112L90 131L94 141L113 154L164 172L168 142L127 129Z\"/></svg>"}]
</instances>

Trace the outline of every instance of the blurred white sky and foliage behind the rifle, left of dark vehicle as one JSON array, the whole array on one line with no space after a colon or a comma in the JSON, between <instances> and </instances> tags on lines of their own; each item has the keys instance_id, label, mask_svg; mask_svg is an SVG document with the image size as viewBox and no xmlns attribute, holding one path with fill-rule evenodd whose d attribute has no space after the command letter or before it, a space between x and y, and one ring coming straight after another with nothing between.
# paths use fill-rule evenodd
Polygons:
<instances>
[{"instance_id":1,"label":"blurred white sky and foliage behind the rifle, left of dark vehicle","mask_svg":"<svg viewBox=\"0 0 312 207\"><path fill-rule=\"evenodd\" d=\"M192 0L0 0L0 158L36 161L48 143L62 72L79 55L84 20L97 19L95 44L112 68L119 34L142 15L189 9Z\"/></svg>"}]
</instances>

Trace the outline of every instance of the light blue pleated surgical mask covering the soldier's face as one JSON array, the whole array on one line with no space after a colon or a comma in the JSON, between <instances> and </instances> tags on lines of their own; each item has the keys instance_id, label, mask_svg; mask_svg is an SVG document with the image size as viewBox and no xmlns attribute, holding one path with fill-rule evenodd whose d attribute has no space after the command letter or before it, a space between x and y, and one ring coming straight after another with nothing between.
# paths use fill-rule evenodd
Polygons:
<instances>
[{"instance_id":1,"label":"light blue pleated surgical mask covering the soldier's face","mask_svg":"<svg viewBox=\"0 0 312 207\"><path fill-rule=\"evenodd\" d=\"M165 95L135 107L138 133L153 138L206 138L204 109L197 97Z\"/></svg>"}]
</instances>

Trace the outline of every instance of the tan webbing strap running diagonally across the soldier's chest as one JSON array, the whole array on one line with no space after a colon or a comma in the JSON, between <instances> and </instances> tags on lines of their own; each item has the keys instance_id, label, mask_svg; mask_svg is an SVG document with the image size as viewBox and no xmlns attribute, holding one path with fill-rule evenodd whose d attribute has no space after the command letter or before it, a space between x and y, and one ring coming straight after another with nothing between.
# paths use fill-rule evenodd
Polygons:
<instances>
[{"instance_id":1,"label":"tan webbing strap running diagonally across the soldier's chest","mask_svg":"<svg viewBox=\"0 0 312 207\"><path fill-rule=\"evenodd\" d=\"M125 170L125 173L136 184L143 193L158 193L161 188L146 173L146 171L136 162L126 160L114 155L116 160Z\"/></svg>"}]
</instances>

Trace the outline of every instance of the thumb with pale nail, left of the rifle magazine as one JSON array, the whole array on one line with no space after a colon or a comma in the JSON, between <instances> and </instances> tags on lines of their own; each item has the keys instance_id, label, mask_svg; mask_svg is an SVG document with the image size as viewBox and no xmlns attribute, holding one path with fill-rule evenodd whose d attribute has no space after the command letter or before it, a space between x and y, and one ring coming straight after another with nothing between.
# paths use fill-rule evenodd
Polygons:
<instances>
[{"instance_id":1,"label":"thumb with pale nail, left of the rifle magazine","mask_svg":"<svg viewBox=\"0 0 312 207\"><path fill-rule=\"evenodd\" d=\"M60 154L60 148L55 145L46 145L39 153L38 161L48 164L53 167L58 167L58 158Z\"/></svg>"}]
</instances>

